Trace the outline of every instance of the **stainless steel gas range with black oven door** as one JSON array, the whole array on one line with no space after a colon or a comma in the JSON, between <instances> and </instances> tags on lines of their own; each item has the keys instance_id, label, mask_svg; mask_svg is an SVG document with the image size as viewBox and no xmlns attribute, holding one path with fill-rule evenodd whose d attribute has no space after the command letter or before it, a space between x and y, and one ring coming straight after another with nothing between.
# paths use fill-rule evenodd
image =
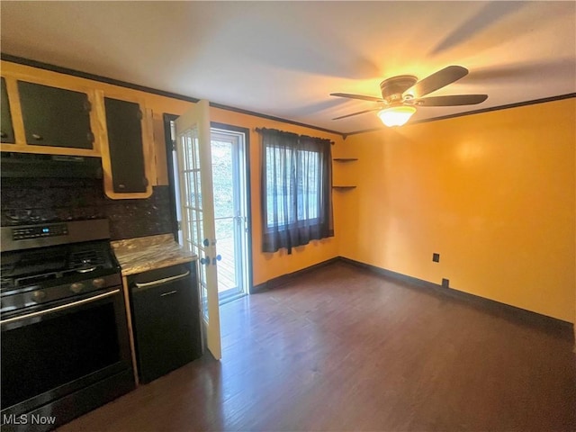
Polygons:
<instances>
[{"instance_id":1,"label":"stainless steel gas range with black oven door","mask_svg":"<svg viewBox=\"0 0 576 432\"><path fill-rule=\"evenodd\" d=\"M49 430L135 386L107 220L0 228L4 430Z\"/></svg>"}]
</instances>

